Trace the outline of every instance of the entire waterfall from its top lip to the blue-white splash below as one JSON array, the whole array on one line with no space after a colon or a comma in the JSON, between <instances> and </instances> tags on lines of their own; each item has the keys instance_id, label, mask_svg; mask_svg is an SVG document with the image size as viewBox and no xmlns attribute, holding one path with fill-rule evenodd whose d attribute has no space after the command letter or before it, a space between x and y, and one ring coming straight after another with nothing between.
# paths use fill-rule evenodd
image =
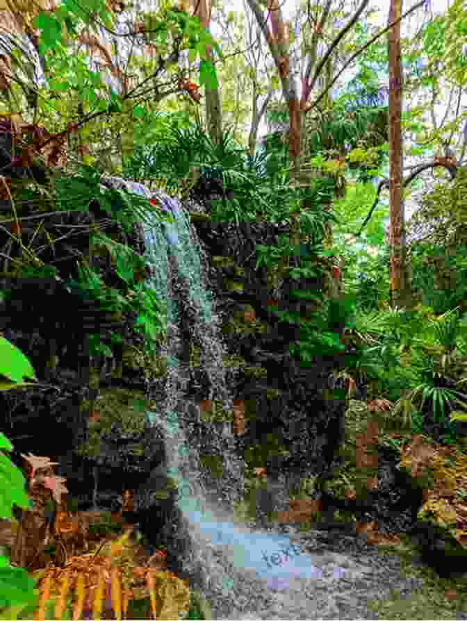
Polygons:
<instances>
[{"instance_id":1,"label":"entire waterfall from its top lip to the blue-white splash below","mask_svg":"<svg viewBox=\"0 0 467 621\"><path fill-rule=\"evenodd\" d=\"M141 188L144 186L132 190L142 193ZM213 605L213 618L227 618L232 611L248 608L238 593L264 597L266 608L271 595L268 590L289 588L295 577L316 578L319 570L313 566L312 557L301 554L300 546L290 543L288 536L252 531L233 519L232 502L243 493L242 464L233 458L234 440L228 423L199 424L199 400L190 392L192 370L186 360L186 340L195 340L201 350L199 369L204 374L202 399L221 401L231 411L218 317L207 290L196 233L190 229L177 199L162 192L154 194L174 222L145 225L146 260L153 268L149 282L159 299L167 301L167 338L163 347L167 376L159 386L160 401L154 399L160 407L147 412L147 419L165 438L167 477L177 481L177 504L190 547L195 550L198 566L203 568L200 583ZM219 479L208 477L200 464L203 449L213 449L216 443L224 457Z\"/></svg>"}]
</instances>

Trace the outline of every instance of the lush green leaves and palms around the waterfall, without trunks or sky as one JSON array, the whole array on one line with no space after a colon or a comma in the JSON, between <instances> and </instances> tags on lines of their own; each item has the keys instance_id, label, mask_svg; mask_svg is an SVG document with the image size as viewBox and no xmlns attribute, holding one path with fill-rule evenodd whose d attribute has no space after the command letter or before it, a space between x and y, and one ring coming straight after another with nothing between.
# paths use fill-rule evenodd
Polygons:
<instances>
[{"instance_id":1,"label":"lush green leaves and palms around the waterfall, without trunks or sky","mask_svg":"<svg viewBox=\"0 0 467 621\"><path fill-rule=\"evenodd\" d=\"M70 1L54 12L41 11L31 18L40 32L47 84L32 88L34 67L28 64L33 63L29 58L21 65L26 77L13 80L8 97L1 99L1 135L13 136L15 126L24 129L23 138L13 140L11 161L2 160L11 179L8 177L7 183L2 178L0 198L11 201L12 208L0 220L2 231L8 235L1 249L1 275L10 279L60 279L60 261L54 251L61 237L48 222L60 213L89 210L92 201L98 201L105 216L82 229L90 252L81 256L64 284L108 313L133 316L136 330L144 336L145 354L150 356L165 332L165 300L158 299L145 283L144 262L127 235L134 224L149 217L151 222L154 218L169 222L171 218L134 194L103 189L99 185L101 173L120 174L177 194L180 199L197 197L199 187L215 188L211 192L215 194L210 213L213 222L291 222L298 217L300 243L281 236L277 247L259 245L256 249L257 268L265 266L290 279L306 277L320 283L313 290L295 288L295 299L311 304L311 311L305 315L277 312L279 322L300 324L301 338L292 353L303 365L317 356L345 355L341 375L347 379L349 395L352 386L359 386L368 390L368 399L387 399L391 404L386 412L388 428L409 429L427 433L442 443L456 443L459 438L454 422L467 417L467 176L459 168L454 180L440 177L425 192L414 222L431 224L432 232L410 246L413 304L391 308L384 230L388 207L378 200L379 190L373 183L383 175L388 161L388 107L375 69L387 68L386 47L381 42L368 47L359 56L357 75L345 90L329 99L327 107L309 115L306 163L315 174L308 183L297 185L293 183L284 133L270 132L252 154L239 131L239 118L245 119L245 110L238 104L234 113L233 104L227 105L231 104L229 100L224 101L229 123L224 122L222 138L214 140L199 110L193 107L199 87L189 82L189 88L180 88L186 76L177 63L180 53L186 51L202 86L216 88L220 76L226 84L225 92L231 92L233 69L228 63L214 65L207 58L206 46L213 47L218 59L222 51L199 19L173 10L166 2L148 13L142 22L150 35L146 43L156 46L160 73L164 69L167 83L156 62L151 61L154 88L151 96L145 97L147 92L140 86L149 78L144 63L133 60L132 68L145 76L142 85L133 90L123 88L117 94L104 81L104 74L90 69L83 52L69 53L67 45L82 32L83 24L95 19L110 31L115 26L115 13L103 1L81 4L88 8L87 13ZM227 21L238 25L238 16ZM416 44L420 44L419 52L427 57L431 71L417 63L416 70L408 74L408 90L434 91L439 78L433 67L438 63L443 64L446 79L461 92L466 63L465 54L458 48L466 38L465 24L465 11L458 2L445 16L421 28ZM457 33L452 38L454 47L445 46L451 31ZM369 38L370 29L357 24L354 40L342 53L352 53ZM12 58L17 60L17 55L12 53ZM407 67L415 58L415 47L405 42ZM245 87L251 78L254 88L259 92L263 89L264 95L264 75L258 67L248 67L251 70L247 71L242 62L245 75L237 76L238 83ZM169 98L176 92L183 101ZM193 92L195 95L187 99L187 93ZM228 97L233 100L233 95ZM285 106L276 104L270 106L268 120L287 122ZM440 147L448 133L459 131L464 122L463 114L458 114L444 128L429 126L422 120L426 110L413 106L402 119L407 134L416 137L415 146L410 147L413 156L424 156L429 149ZM25 119L31 122L29 129ZM464 134L466 126L467 122ZM106 154L108 144L117 142L116 135L120 151L115 164ZM48 149L44 149L46 144ZM65 150L67 163L58 165ZM24 169L33 171L32 181L22 177ZM26 229L28 218L38 214L41 217L32 220L33 231L26 240L22 227ZM107 235L106 230L115 225L120 226L121 233ZM44 249L49 254L44 254ZM107 253L115 278L106 280L99 267L92 265L93 253L99 252ZM331 285L338 262L344 265L338 271L344 285L343 294L336 297L331 295ZM4 300L11 291L3 290ZM122 338L115 334L104 343L96 333L90 334L89 342L92 356L109 356ZM8 390L18 383L27 386L24 378L34 379L30 365L0 336L2 352L7 355L0 355L0 373L5 378L0 389ZM7 358L10 363L3 366ZM6 438L0 440L3 449L10 449ZM1 509L10 515L8 503L24 502L18 491L22 481L8 459L1 458ZM24 593L32 591L22 572L13 572L4 557L0 561L5 576L0 590L3 608L19 602L19 588L24 588Z\"/></svg>"}]
</instances>

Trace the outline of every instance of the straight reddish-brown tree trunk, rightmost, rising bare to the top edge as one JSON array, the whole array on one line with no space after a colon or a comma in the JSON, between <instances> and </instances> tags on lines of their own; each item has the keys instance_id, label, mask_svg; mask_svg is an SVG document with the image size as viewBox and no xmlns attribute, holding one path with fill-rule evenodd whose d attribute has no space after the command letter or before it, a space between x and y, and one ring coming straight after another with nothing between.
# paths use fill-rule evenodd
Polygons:
<instances>
[{"instance_id":1,"label":"straight reddish-brown tree trunk, rightmost, rising bare to the top edge","mask_svg":"<svg viewBox=\"0 0 467 621\"><path fill-rule=\"evenodd\" d=\"M402 0L391 0L389 24L402 13ZM402 200L402 68L400 22L388 31L389 52L389 279L391 306L410 305Z\"/></svg>"}]
</instances>

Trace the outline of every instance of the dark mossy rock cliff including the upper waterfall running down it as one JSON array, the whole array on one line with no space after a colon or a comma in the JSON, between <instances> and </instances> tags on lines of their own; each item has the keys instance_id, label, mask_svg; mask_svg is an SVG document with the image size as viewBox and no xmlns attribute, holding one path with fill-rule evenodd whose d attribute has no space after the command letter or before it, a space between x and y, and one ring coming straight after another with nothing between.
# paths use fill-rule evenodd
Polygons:
<instances>
[{"instance_id":1,"label":"dark mossy rock cliff including the upper waterfall running down it","mask_svg":"<svg viewBox=\"0 0 467 621\"><path fill-rule=\"evenodd\" d=\"M126 188L145 199L156 197L132 182L106 178L102 185ZM161 195L157 199L164 203ZM286 227L213 224L202 209L193 204L189 208L196 216L190 215L186 230L177 229L178 225L163 229L159 223L152 230L135 232L136 251L145 251L147 282L154 282L154 288L165 286L159 293L173 311L167 338L161 339L156 354L149 360L143 352L144 337L134 329L131 313L81 322L79 334L69 329L67 317L62 316L63 342L52 353L33 356L38 378L56 386L51 388L51 395L58 397L56 405L51 407L49 399L42 409L37 401L27 406L27 420L21 427L19 411L12 409L8 399L26 403L34 391L42 399L47 392L18 390L0 399L9 421L2 431L17 451L57 461L57 473L67 478L79 508L115 511L122 506L123 492L133 490L135 508L133 516L126 518L140 523L148 545L167 545L167 568L183 574L191 567L193 575L195 564L187 560L191 552L173 481L163 474L167 467L163 442L144 412L177 413L190 446L199 453L197 467L206 493L216 504L232 508L243 498L246 461L249 467L268 468L271 489L282 490L273 495L272 508L279 511L288 508L287 477L295 481L310 472L319 474L332 463L343 440L344 399L329 381L338 359L323 356L302 367L288 351L300 339L297 326L279 322L274 312L310 313L290 292L318 288L323 282L284 281L270 270L256 269L257 245L277 243L277 235L287 233ZM94 210L99 211L98 206ZM177 210L170 211L177 216ZM188 212L180 208L180 213L186 221ZM99 272L107 274L106 283L116 286L113 265L105 257L95 259ZM165 281L156 278L158 270L165 270ZM62 279L70 275L65 272ZM65 290L64 299L67 295L73 293ZM88 311L86 307L83 313L95 316ZM27 356L33 351L33 329L42 340L54 338L52 323L47 324L49 332L41 333L40 313L36 317L27 326L21 317L17 325L8 326L11 342ZM113 348L113 356L99 354L90 359L83 326L100 332L106 342L106 326L110 334L115 322L120 325L122 344ZM176 366L168 363L171 356L177 357ZM54 368L49 372L47 362L52 358ZM63 400L68 389L72 406ZM25 438L27 428L37 431ZM57 433L44 438L40 429Z\"/></svg>"}]
</instances>

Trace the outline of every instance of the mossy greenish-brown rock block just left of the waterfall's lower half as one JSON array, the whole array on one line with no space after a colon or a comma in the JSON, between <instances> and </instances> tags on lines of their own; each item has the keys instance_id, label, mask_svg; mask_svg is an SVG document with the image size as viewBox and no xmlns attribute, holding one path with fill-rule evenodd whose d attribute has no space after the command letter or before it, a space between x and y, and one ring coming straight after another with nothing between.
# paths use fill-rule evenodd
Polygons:
<instances>
[{"instance_id":1,"label":"mossy greenish-brown rock block just left of the waterfall's lower half","mask_svg":"<svg viewBox=\"0 0 467 621\"><path fill-rule=\"evenodd\" d=\"M95 412L99 413L98 422L89 424L88 440L78 449L85 456L97 457L101 453L101 436L110 432L114 423L122 424L124 433L141 434L145 430L145 412L153 410L156 404L145 398L140 390L124 388L103 388L95 401ZM144 447L139 442L129 446L134 455L142 456Z\"/></svg>"}]
</instances>

